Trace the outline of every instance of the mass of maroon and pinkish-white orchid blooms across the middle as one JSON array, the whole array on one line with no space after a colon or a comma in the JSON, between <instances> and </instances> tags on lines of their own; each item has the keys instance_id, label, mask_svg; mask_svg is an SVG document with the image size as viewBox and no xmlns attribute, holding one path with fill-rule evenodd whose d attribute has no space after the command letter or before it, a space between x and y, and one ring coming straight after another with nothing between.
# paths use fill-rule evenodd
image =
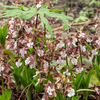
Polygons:
<instances>
[{"instance_id":1,"label":"mass of maroon and pinkish-white orchid blooms across the middle","mask_svg":"<svg viewBox=\"0 0 100 100\"><path fill-rule=\"evenodd\" d=\"M36 7L40 8L41 4L37 4ZM33 82L34 86L39 84L44 86L42 100L56 97L57 93L65 97L73 97L76 90L71 76L76 78L73 73L80 74L84 70L83 56L88 60L96 57L100 50L99 37L86 35L80 30L65 39L61 39L57 33L52 39L48 32L40 30L36 24L31 25L17 17L9 18L8 26L9 32L6 38L11 42L7 44L6 49L13 48L13 52L17 55L13 61L15 64L12 66L13 71L16 68L22 69L20 72L22 75L25 68L28 71L34 69L30 80L32 77L38 78L36 82ZM10 61L8 63L11 64ZM43 84L44 80L45 84Z\"/></svg>"}]
</instances>

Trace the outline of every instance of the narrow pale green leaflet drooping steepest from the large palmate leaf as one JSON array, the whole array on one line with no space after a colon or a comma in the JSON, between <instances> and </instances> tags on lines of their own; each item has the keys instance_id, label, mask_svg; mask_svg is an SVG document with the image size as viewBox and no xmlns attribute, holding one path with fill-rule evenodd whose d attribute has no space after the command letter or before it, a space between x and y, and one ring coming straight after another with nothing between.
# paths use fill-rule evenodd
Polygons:
<instances>
[{"instance_id":1,"label":"narrow pale green leaflet drooping steepest from the large palmate leaf","mask_svg":"<svg viewBox=\"0 0 100 100\"><path fill-rule=\"evenodd\" d=\"M49 25L48 20L44 17L44 14L40 14L40 19L46 25L46 29L49 31L51 37L53 38L52 28Z\"/></svg>"}]
</instances>

